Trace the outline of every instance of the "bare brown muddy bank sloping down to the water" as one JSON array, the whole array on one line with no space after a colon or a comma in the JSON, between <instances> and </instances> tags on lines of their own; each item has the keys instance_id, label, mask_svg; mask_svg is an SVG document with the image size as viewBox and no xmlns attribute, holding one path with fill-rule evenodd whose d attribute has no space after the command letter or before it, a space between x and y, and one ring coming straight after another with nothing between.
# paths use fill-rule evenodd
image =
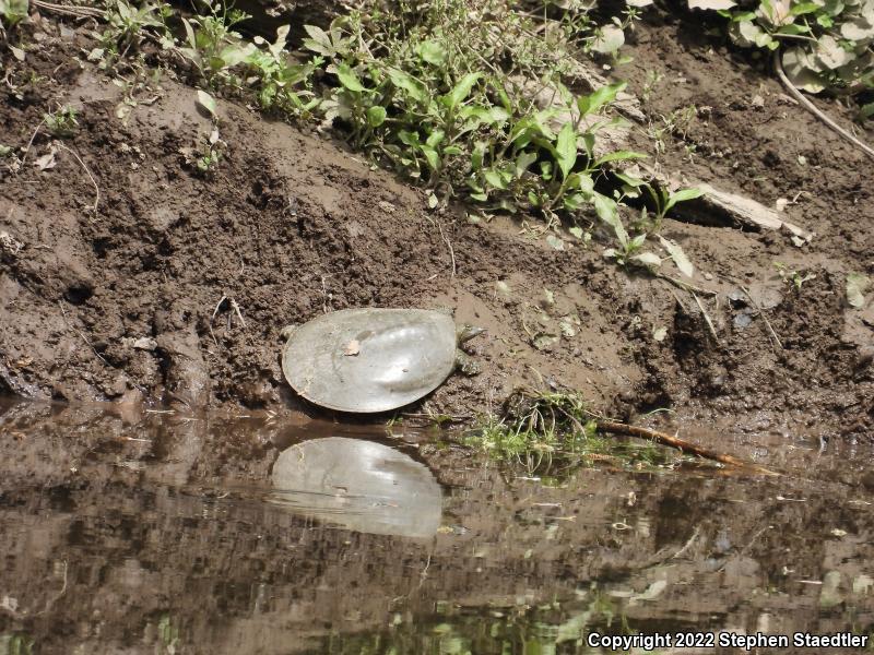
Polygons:
<instances>
[{"instance_id":1,"label":"bare brown muddy bank sloping down to the water","mask_svg":"<svg viewBox=\"0 0 874 655\"><path fill-rule=\"evenodd\" d=\"M165 73L157 99L123 123L120 90L82 61L85 31L43 20L27 26L39 47L24 63L3 53L17 91L3 88L0 143L26 145L62 103L80 127L54 167L34 166L50 148L43 129L22 170L0 174L0 391L312 414L282 379L282 326L346 307L449 306L488 330L473 342L483 373L450 378L426 402L435 410L472 417L542 377L626 417L670 406L760 433L870 432L874 307L850 310L843 291L848 272L874 274L870 162L767 71L696 26L653 21L616 74L638 94L649 71L663 75L645 103L657 123L699 108L685 141L665 139L663 167L765 204L795 200L790 218L816 233L799 249L783 235L666 222L696 284L720 294L707 305L718 343L690 296L616 270L600 245L558 252L507 219L432 213L422 191L362 155L233 102L220 103L225 157L199 175L180 154L209 133L191 87ZM816 277L795 290L777 261ZM746 326L741 285L764 308ZM532 346L530 334L567 315L580 320L575 336Z\"/></svg>"}]
</instances>

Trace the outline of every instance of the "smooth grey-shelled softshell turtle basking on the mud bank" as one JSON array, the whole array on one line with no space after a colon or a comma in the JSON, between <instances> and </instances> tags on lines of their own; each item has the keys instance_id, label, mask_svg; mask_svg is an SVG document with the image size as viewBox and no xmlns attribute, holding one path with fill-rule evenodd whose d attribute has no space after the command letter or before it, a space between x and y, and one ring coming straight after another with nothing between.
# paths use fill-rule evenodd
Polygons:
<instances>
[{"instance_id":1,"label":"smooth grey-shelled softshell turtle basking on the mud bank","mask_svg":"<svg viewBox=\"0 0 874 655\"><path fill-rule=\"evenodd\" d=\"M283 330L282 372L303 397L340 412L388 412L437 389L460 366L458 345L483 332L446 312L343 309Z\"/></svg>"}]
</instances>

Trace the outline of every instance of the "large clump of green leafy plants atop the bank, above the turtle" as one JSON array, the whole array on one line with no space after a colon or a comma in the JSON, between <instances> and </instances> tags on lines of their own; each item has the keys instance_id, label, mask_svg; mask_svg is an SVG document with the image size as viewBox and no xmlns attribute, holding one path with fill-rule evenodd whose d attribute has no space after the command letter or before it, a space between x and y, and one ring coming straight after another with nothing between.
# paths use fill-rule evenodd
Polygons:
<instances>
[{"instance_id":1,"label":"large clump of green leafy plants atop the bank, above the turtle","mask_svg":"<svg viewBox=\"0 0 874 655\"><path fill-rule=\"evenodd\" d=\"M574 97L554 67L555 52L530 36L519 14L504 8L471 24L470 4L426 2L416 16L403 8L375 15L363 9L328 32L307 26L305 47L326 57L336 81L322 104L326 118L345 127L356 147L444 195L487 209L530 207L550 222L557 212L578 212L591 204L602 166L643 156L595 155L599 130L618 122L601 114L625 85ZM520 43L496 41L498 26L518 31ZM564 67L574 61L567 55ZM540 78L555 91L546 108L530 84Z\"/></svg>"}]
</instances>

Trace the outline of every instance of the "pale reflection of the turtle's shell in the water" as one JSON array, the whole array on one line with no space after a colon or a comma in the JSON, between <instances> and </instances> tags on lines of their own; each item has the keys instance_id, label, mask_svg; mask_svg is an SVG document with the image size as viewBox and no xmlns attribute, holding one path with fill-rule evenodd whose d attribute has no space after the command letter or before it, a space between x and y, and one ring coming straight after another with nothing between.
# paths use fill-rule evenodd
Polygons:
<instances>
[{"instance_id":1,"label":"pale reflection of the turtle's shell in the water","mask_svg":"<svg viewBox=\"0 0 874 655\"><path fill-rule=\"evenodd\" d=\"M270 501L349 529L430 537L442 495L430 471L381 443L344 437L304 441L273 464Z\"/></svg>"}]
</instances>

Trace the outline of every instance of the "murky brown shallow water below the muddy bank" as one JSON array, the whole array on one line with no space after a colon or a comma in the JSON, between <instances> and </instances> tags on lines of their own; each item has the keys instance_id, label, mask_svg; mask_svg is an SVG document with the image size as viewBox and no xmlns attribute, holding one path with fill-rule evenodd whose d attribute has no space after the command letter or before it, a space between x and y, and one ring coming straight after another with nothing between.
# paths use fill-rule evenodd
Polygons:
<instances>
[{"instance_id":1,"label":"murky brown shallow water below the muddy bank","mask_svg":"<svg viewBox=\"0 0 874 655\"><path fill-rule=\"evenodd\" d=\"M745 438L787 475L586 468L559 485L439 438L2 405L0 655L874 632L869 446Z\"/></svg>"}]
</instances>

